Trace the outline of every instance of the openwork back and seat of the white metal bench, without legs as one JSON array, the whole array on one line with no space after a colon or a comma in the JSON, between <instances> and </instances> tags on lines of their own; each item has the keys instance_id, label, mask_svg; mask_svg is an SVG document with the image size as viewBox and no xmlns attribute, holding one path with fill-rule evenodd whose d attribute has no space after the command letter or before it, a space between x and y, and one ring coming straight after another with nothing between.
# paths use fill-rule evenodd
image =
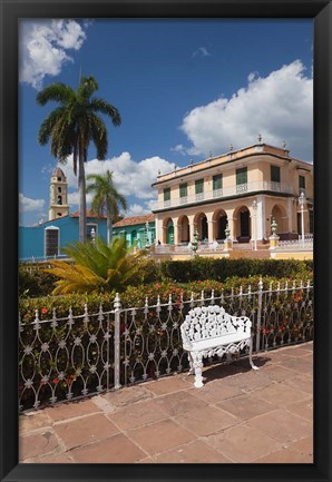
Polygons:
<instances>
[{"instance_id":1,"label":"openwork back and seat of the white metal bench, without legs","mask_svg":"<svg viewBox=\"0 0 332 482\"><path fill-rule=\"evenodd\" d=\"M232 343L251 336L252 322L246 316L232 316L223 306L193 308L180 325L184 350L198 350Z\"/></svg>"}]
</instances>

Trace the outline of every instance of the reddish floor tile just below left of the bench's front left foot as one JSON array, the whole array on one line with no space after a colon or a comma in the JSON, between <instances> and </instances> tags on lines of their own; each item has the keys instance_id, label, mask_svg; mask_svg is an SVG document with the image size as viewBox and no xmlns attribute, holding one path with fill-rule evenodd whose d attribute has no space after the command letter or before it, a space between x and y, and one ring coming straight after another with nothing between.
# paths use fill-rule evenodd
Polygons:
<instances>
[{"instance_id":1,"label":"reddish floor tile just below left of the bench's front left foot","mask_svg":"<svg viewBox=\"0 0 332 482\"><path fill-rule=\"evenodd\" d=\"M159 410L163 410L164 413L170 416L176 416L196 409L204 410L207 406L206 402L188 392L177 392L158 396L155 403Z\"/></svg>"}]
</instances>

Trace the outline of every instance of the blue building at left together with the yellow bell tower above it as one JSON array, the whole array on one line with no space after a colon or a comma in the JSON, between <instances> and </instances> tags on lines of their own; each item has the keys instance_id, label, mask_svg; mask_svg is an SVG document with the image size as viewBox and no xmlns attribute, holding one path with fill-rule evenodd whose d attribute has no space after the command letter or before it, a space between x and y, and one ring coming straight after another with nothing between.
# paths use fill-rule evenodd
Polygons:
<instances>
[{"instance_id":1,"label":"blue building at left together with the yellow bell tower above it","mask_svg":"<svg viewBox=\"0 0 332 482\"><path fill-rule=\"evenodd\" d=\"M57 167L50 180L49 220L19 227L19 260L61 256L66 245L79 239L79 213L69 214L67 187L66 176ZM96 217L87 210L87 239L94 235L107 239L106 217Z\"/></svg>"}]
</instances>

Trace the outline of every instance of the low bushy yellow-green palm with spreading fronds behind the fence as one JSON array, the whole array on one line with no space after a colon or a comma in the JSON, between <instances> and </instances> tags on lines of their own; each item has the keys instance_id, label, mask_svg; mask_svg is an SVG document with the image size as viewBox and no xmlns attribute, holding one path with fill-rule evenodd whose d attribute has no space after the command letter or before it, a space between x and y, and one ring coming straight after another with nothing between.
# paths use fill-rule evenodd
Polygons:
<instances>
[{"instance_id":1,"label":"low bushy yellow-green palm with spreading fronds behind the fence","mask_svg":"<svg viewBox=\"0 0 332 482\"><path fill-rule=\"evenodd\" d=\"M147 264L144 250L131 253L126 239L114 238L108 245L97 236L95 243L74 243L62 248L71 262L50 260L48 273L59 277L53 295L68 293L102 293L120 291L128 284L137 284Z\"/></svg>"}]
</instances>

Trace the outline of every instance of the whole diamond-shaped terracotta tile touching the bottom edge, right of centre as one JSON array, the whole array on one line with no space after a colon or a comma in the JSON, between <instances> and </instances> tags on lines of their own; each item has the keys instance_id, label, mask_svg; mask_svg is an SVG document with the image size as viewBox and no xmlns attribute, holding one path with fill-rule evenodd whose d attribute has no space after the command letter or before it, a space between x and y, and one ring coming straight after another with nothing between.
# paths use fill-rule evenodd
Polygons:
<instances>
[{"instance_id":1,"label":"whole diamond-shaped terracotta tile touching the bottom edge, right of centre","mask_svg":"<svg viewBox=\"0 0 332 482\"><path fill-rule=\"evenodd\" d=\"M276 440L246 424L211 435L205 439L205 442L237 463L252 462L281 446Z\"/></svg>"}]
</instances>

